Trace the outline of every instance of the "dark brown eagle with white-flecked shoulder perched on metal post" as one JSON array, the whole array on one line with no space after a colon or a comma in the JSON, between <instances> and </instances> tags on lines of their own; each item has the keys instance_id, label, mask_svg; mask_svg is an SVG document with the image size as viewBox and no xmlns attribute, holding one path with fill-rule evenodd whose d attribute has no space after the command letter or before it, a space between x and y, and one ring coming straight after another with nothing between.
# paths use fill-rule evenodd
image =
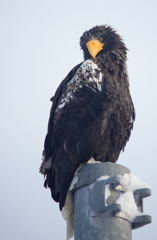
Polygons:
<instances>
[{"instance_id":1,"label":"dark brown eagle with white-flecked shoulder perched on metal post","mask_svg":"<svg viewBox=\"0 0 157 240\"><path fill-rule=\"evenodd\" d=\"M44 186L50 188L60 210L79 166L91 158L115 163L135 120L128 49L120 35L109 25L95 26L83 33L80 47L84 61L69 72L51 98L40 167Z\"/></svg>"}]
</instances>

